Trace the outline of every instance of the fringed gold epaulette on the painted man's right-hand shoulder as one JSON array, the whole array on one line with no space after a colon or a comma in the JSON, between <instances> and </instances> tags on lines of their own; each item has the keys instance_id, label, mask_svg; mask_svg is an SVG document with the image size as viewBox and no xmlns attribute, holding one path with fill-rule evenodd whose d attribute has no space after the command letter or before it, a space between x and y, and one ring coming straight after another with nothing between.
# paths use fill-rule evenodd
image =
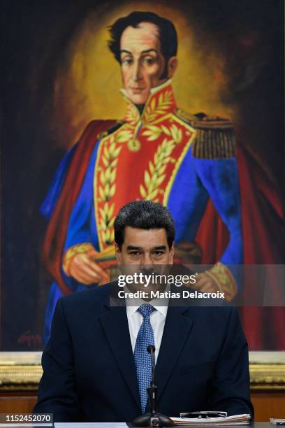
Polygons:
<instances>
[{"instance_id":1,"label":"fringed gold epaulette on the painted man's right-hand shoulder","mask_svg":"<svg viewBox=\"0 0 285 428\"><path fill-rule=\"evenodd\" d=\"M233 122L205 113L191 115L177 108L175 114L196 130L192 155L200 159L226 159L235 156Z\"/></svg>"}]
</instances>

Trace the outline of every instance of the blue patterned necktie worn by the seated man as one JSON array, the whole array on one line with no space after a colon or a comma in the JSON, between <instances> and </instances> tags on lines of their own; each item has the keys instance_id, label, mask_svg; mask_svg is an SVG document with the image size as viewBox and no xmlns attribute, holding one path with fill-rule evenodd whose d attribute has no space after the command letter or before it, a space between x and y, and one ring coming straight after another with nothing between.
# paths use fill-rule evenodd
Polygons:
<instances>
[{"instance_id":1,"label":"blue patterned necktie worn by the seated man","mask_svg":"<svg viewBox=\"0 0 285 428\"><path fill-rule=\"evenodd\" d=\"M140 391L140 405L142 413L145 413L147 388L152 380L152 364L150 354L147 352L147 346L154 345L154 331L152 324L150 324L149 316L155 309L151 305L144 304L138 308L138 311L142 314L143 321L138 331L133 357L135 359L138 388Z\"/></svg>"}]
</instances>

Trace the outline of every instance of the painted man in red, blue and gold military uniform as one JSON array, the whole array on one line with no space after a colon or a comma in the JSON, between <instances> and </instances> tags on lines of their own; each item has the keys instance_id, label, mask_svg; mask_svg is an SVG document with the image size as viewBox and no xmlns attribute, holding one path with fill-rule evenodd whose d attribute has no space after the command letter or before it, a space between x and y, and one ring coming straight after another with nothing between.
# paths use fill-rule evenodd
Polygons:
<instances>
[{"instance_id":1,"label":"painted man in red, blue and gold military uniform","mask_svg":"<svg viewBox=\"0 0 285 428\"><path fill-rule=\"evenodd\" d=\"M187 253L185 244L193 243L211 198L230 236L220 259L214 260L221 262L216 270L217 280L221 275L227 276L221 287L226 286L228 294L235 294L235 285L224 263L242 263L233 125L204 114L187 115L177 107L171 85L178 44L173 22L153 12L136 11L112 24L110 35L109 48L121 66L126 115L119 123L89 124L78 148L73 148L68 160L61 164L50 191L52 197L48 196L43 206L43 211L47 206L46 214L50 215L56 204L54 199L61 193L63 206L55 208L47 231L51 251L52 227L65 239L64 249L59 249L61 266L56 273L58 283L53 283L50 292L47 322L52 315L50 308L62 293L82 290L105 278L94 258L114 255L113 221L120 206L132 200L149 199L167 205L176 220L178 247L183 243ZM87 157L91 145L94 148ZM81 158L79 164L74 159L80 151L85 159L82 162ZM83 164L84 176L76 183ZM66 169L71 171L68 178ZM77 173L71 179L73 169ZM71 187L62 188L65 178L66 183L71 180ZM76 194L74 188L78 190ZM68 197L63 199L64 192ZM66 214L69 198L73 205ZM55 236L59 241L58 233ZM207 251L210 248L202 248L202 253ZM201 281L201 290L217 289L211 276Z\"/></svg>"}]
</instances>

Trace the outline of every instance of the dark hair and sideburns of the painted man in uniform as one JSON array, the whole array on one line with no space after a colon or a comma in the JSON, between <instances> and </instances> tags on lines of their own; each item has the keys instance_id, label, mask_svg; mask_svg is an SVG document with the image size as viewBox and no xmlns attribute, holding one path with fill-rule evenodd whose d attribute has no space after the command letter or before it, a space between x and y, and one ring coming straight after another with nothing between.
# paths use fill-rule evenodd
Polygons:
<instances>
[{"instance_id":1,"label":"dark hair and sideburns of the painted man in uniform","mask_svg":"<svg viewBox=\"0 0 285 428\"><path fill-rule=\"evenodd\" d=\"M175 57L177 54L177 33L173 23L166 18L163 18L153 12L132 12L127 16L119 18L109 27L111 39L108 41L110 51L115 55L115 58L121 63L120 57L120 41L122 32L126 27L138 28L141 22L152 22L159 28L159 39L161 42L161 52L166 59ZM166 76L167 77L167 76Z\"/></svg>"}]
</instances>

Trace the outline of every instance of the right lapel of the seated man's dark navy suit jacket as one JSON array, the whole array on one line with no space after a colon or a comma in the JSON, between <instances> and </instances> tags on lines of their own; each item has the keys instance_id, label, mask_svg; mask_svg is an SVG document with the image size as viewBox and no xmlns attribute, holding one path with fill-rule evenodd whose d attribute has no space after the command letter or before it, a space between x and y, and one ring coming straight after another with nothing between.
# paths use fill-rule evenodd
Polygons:
<instances>
[{"instance_id":1,"label":"right lapel of the seated man's dark navy suit jacket","mask_svg":"<svg viewBox=\"0 0 285 428\"><path fill-rule=\"evenodd\" d=\"M169 306L163 330L159 357L155 367L155 380L158 387L158 401L166 387L193 321L187 316L189 308ZM189 315L189 314L188 314Z\"/></svg>"}]
</instances>

